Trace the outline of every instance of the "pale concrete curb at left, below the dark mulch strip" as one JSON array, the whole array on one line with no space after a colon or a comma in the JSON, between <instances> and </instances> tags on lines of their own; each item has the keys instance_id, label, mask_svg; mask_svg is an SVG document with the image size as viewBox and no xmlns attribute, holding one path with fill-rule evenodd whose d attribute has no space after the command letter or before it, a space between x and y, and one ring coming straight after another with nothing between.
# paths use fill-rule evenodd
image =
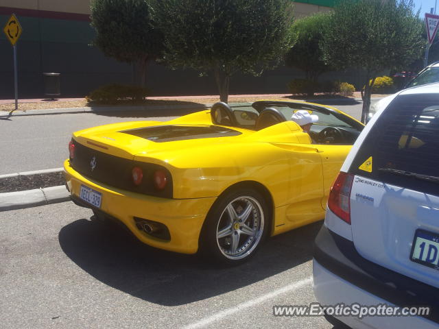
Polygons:
<instances>
[{"instance_id":1,"label":"pale concrete curb at left, below the dark mulch strip","mask_svg":"<svg viewBox=\"0 0 439 329\"><path fill-rule=\"evenodd\" d=\"M56 204L70 200L65 186L36 188L34 190L0 193L0 212Z\"/></svg>"}]
</instances>

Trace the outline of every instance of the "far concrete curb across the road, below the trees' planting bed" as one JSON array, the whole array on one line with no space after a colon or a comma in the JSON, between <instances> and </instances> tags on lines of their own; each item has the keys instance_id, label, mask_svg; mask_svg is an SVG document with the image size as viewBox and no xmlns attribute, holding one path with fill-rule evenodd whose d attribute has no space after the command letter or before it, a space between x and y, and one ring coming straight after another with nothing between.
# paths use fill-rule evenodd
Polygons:
<instances>
[{"instance_id":1,"label":"far concrete curb across the road, below the trees' planting bed","mask_svg":"<svg viewBox=\"0 0 439 329\"><path fill-rule=\"evenodd\" d=\"M379 99L379 98L376 98ZM361 98L349 99L289 99L296 101L308 101L309 103L320 103L328 101L350 102L361 101ZM250 106L252 103L229 103L230 106ZM104 112L139 112L139 111L156 111L156 110L193 110L211 108L212 103L206 104L192 104L192 105L168 105L168 106L99 106L99 107L84 107L84 108L52 108L49 110L28 110L28 111L14 111L12 115L0 114L0 118L8 117L24 117L28 115L49 115L49 114L78 114L78 113L104 113Z\"/></svg>"}]
</instances>

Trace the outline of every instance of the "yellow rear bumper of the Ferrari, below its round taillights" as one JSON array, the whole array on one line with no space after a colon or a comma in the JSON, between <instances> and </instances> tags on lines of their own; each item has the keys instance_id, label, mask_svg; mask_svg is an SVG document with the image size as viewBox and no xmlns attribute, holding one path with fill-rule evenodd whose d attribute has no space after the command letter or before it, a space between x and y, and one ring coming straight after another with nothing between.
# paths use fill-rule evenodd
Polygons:
<instances>
[{"instance_id":1,"label":"yellow rear bumper of the Ferrari, below its round taillights","mask_svg":"<svg viewBox=\"0 0 439 329\"><path fill-rule=\"evenodd\" d=\"M64 162L66 184L71 196L80 206L94 208L80 200L80 186L85 185L102 193L100 212L118 219L143 243L172 252L195 254L198 239L207 212L216 197L199 199L165 199L112 188L106 184L88 180ZM157 221L167 226L170 241L156 239L137 228L134 217Z\"/></svg>"}]
</instances>

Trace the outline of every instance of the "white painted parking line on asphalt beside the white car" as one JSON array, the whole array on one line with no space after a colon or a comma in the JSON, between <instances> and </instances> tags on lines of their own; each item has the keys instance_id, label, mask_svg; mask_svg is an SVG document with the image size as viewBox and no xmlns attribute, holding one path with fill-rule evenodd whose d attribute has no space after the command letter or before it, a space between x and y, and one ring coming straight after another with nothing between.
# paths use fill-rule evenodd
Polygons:
<instances>
[{"instance_id":1,"label":"white painted parking line on asphalt beside the white car","mask_svg":"<svg viewBox=\"0 0 439 329\"><path fill-rule=\"evenodd\" d=\"M227 317L228 315L232 315L233 313L237 313L244 308L248 308L250 306L254 306L256 304L259 304L261 302L265 302L265 300L270 300L273 297L276 297L278 295L281 295L283 293L287 293L289 291L294 291L296 289L300 289L303 286L310 284L313 281L312 276L309 276L306 279L300 280L296 283L288 284L287 286L277 289L275 291L272 291L271 293L267 293L265 295L262 295L261 297L258 297L254 300L249 300L248 302L244 302L241 304L238 304L237 306L233 306L230 308L227 308L226 310L222 310L221 312L218 312L214 315L211 315L210 317L205 317L204 319L201 319L200 321L197 321L193 324L189 324L188 326L183 327L183 329L195 329L195 328L202 328L203 326L207 326L208 324L211 324L214 321L217 321L219 319L222 319L223 317Z\"/></svg>"}]
</instances>

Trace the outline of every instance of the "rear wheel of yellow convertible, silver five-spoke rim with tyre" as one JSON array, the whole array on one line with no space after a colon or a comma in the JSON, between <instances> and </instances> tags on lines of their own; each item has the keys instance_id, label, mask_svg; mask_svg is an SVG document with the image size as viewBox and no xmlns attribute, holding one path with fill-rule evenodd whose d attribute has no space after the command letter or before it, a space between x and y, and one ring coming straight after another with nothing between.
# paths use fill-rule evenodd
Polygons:
<instances>
[{"instance_id":1,"label":"rear wheel of yellow convertible, silver five-spoke rim with tyre","mask_svg":"<svg viewBox=\"0 0 439 329\"><path fill-rule=\"evenodd\" d=\"M252 188L226 191L209 210L200 252L215 263L239 265L250 259L270 231L271 212Z\"/></svg>"}]
</instances>

